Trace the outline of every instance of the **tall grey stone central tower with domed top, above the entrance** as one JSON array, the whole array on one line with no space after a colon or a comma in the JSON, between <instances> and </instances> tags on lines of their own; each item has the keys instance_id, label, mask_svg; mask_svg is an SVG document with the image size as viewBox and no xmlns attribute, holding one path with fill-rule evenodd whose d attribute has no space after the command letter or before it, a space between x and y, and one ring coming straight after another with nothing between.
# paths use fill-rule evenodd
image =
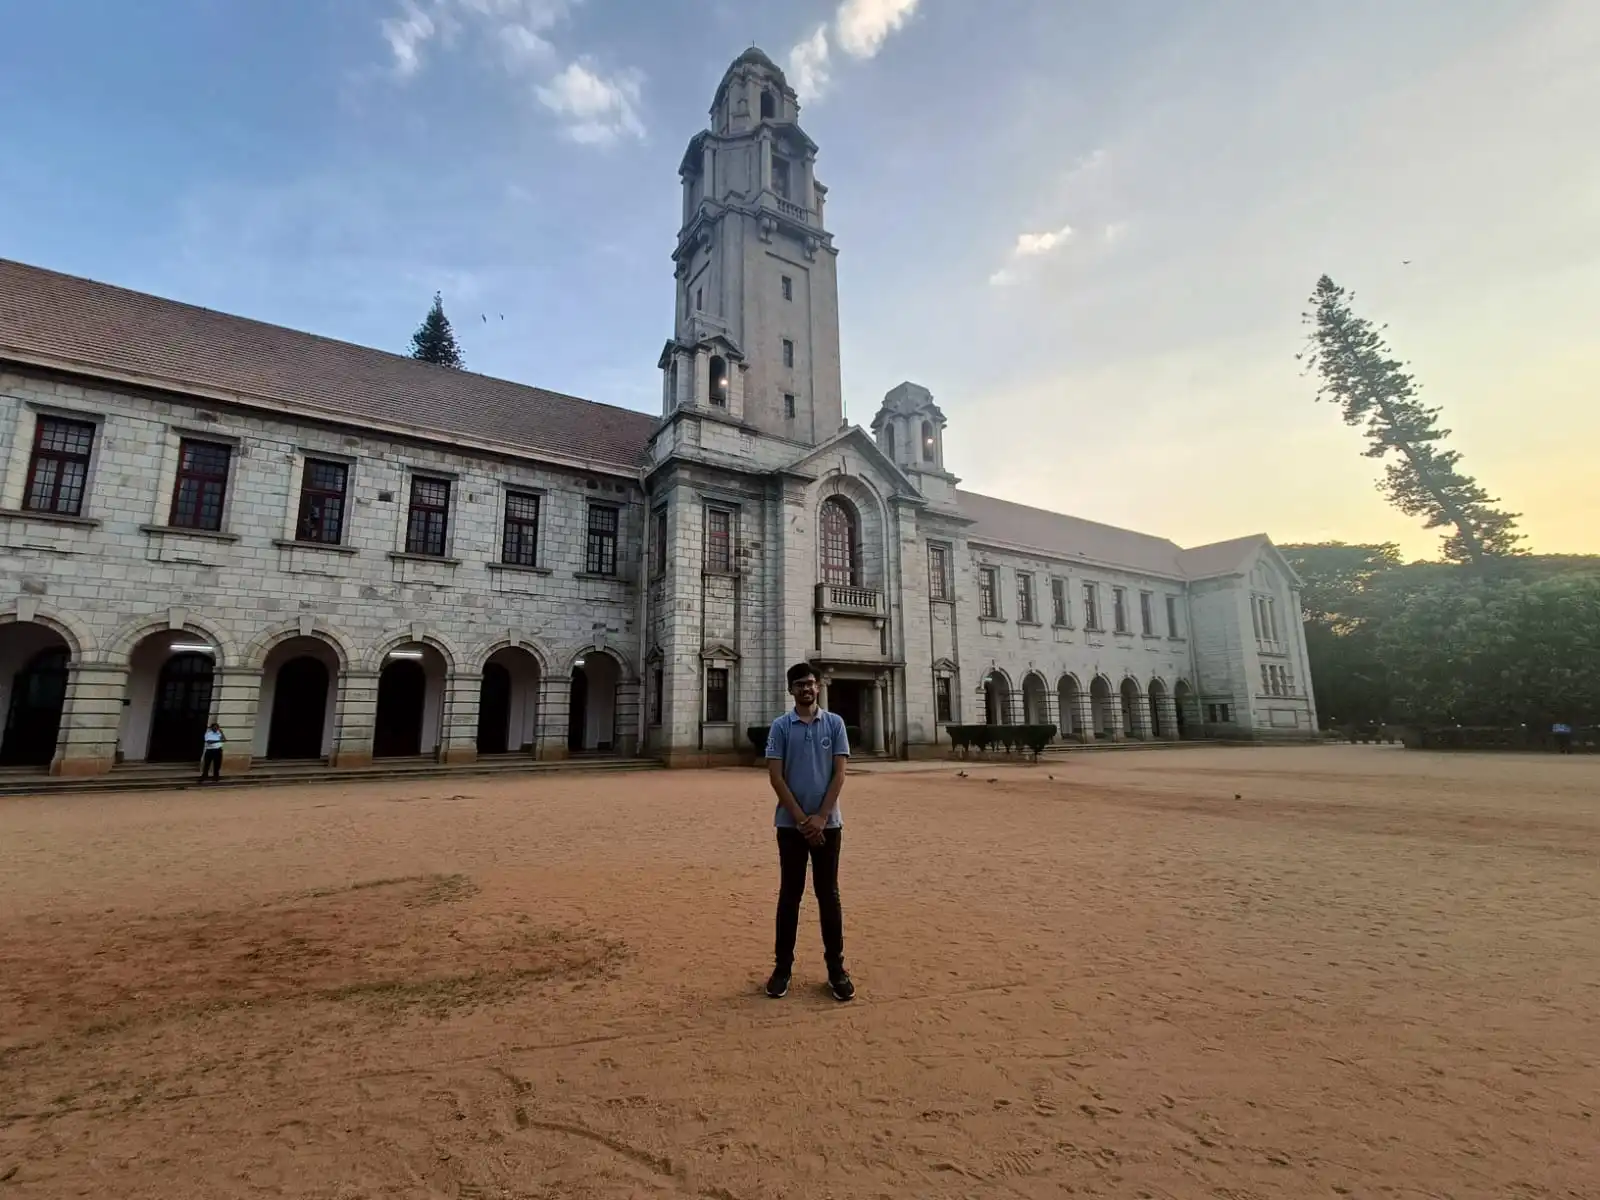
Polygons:
<instances>
[{"instance_id":1,"label":"tall grey stone central tower with domed top, above the entrance","mask_svg":"<svg viewBox=\"0 0 1600 1200\"><path fill-rule=\"evenodd\" d=\"M816 445L843 421L838 275L816 142L798 117L784 72L752 46L722 77L710 128L690 141L662 410L725 413Z\"/></svg>"}]
</instances>

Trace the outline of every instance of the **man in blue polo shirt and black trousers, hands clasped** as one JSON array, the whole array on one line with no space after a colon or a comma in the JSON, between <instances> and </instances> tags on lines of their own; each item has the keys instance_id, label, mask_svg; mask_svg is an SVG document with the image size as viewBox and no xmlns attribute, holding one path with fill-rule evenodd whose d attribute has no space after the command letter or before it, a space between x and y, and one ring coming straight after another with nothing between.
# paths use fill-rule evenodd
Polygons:
<instances>
[{"instance_id":1,"label":"man in blue polo shirt and black trousers, hands clasped","mask_svg":"<svg viewBox=\"0 0 1600 1200\"><path fill-rule=\"evenodd\" d=\"M838 902L838 843L843 822L838 794L845 787L850 739L845 722L816 704L816 672L808 662L789 667L792 712L773 722L766 734L766 778L778 794L778 942L766 995L789 995L800 930L805 869L811 864L811 888L822 918L822 957L827 986L835 1000L853 1000L856 986L845 970L845 915Z\"/></svg>"}]
</instances>

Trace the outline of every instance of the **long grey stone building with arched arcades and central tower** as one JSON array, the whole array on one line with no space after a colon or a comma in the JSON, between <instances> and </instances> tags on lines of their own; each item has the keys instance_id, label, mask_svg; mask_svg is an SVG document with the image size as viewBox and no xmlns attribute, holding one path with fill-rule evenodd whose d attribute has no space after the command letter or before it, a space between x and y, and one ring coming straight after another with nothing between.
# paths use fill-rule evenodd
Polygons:
<instances>
[{"instance_id":1,"label":"long grey stone building with arched arcades and central tower","mask_svg":"<svg viewBox=\"0 0 1600 1200\"><path fill-rule=\"evenodd\" d=\"M741 54L659 418L0 261L0 760L720 762L800 659L862 752L1315 728L1267 538L962 491L915 384L843 422L816 152Z\"/></svg>"}]
</instances>

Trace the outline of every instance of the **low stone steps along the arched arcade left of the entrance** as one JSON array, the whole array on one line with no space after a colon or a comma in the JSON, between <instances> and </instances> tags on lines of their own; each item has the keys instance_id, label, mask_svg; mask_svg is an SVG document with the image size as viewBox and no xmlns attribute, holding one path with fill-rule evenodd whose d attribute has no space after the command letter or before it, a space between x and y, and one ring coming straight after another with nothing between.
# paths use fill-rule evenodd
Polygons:
<instances>
[{"instance_id":1,"label":"low stone steps along the arched arcade left of the entrance","mask_svg":"<svg viewBox=\"0 0 1600 1200\"><path fill-rule=\"evenodd\" d=\"M366 782L373 779L442 779L456 776L611 774L661 770L654 758L582 755L538 762L522 754L483 755L475 763L440 763L426 755L379 758L371 766L328 766L325 758L256 762L242 774L227 774L211 787L272 787L282 784ZM109 774L54 776L37 770L0 770L0 797L66 792L168 792L198 787L198 763L120 763Z\"/></svg>"}]
</instances>

